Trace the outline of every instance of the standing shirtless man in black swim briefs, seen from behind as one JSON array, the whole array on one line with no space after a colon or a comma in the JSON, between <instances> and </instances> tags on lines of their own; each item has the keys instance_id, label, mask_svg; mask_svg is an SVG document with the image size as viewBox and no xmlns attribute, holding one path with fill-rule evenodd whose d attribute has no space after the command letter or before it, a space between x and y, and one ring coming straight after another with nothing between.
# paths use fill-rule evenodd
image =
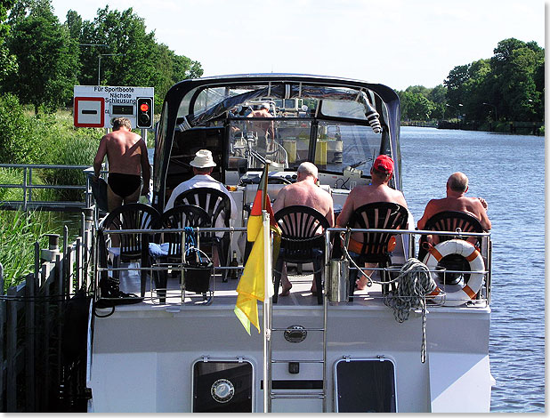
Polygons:
<instances>
[{"instance_id":1,"label":"standing shirtless man in black swim briefs, seen from behind","mask_svg":"<svg viewBox=\"0 0 550 418\"><path fill-rule=\"evenodd\" d=\"M97 154L93 159L93 181L99 179L101 163L105 156L109 161L109 187L107 188L109 212L123 203L137 202L140 192L143 196L148 194L150 166L147 145L140 135L132 132L132 125L128 118L113 119L113 131L101 138Z\"/></svg>"}]
</instances>

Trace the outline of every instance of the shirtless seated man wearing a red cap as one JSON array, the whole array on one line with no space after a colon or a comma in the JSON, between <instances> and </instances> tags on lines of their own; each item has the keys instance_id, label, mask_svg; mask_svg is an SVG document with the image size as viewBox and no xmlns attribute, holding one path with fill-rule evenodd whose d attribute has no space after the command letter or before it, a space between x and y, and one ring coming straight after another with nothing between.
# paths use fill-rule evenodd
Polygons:
<instances>
[{"instance_id":1,"label":"shirtless seated man wearing a red cap","mask_svg":"<svg viewBox=\"0 0 550 418\"><path fill-rule=\"evenodd\" d=\"M388 186L388 182L392 179L393 175L393 160L388 156L378 156L375 162L370 167L370 176L372 178L371 184L355 186L348 197L345 199L342 212L336 220L336 228L345 228L357 208L362 205L375 202L391 202L401 206L407 207L407 202L403 194L396 189L392 189ZM352 240L358 243L363 242L363 234L356 232L352 234L350 243ZM376 267L376 263L366 263L367 267ZM367 271L370 276L370 272ZM367 285L367 277L361 275L357 288L364 289Z\"/></svg>"}]
</instances>

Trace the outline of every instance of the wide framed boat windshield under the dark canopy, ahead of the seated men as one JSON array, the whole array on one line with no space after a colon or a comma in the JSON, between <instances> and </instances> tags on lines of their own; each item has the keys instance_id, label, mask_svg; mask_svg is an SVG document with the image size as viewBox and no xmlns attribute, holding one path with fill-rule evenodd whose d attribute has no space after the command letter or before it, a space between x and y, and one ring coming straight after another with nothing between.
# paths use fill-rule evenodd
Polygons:
<instances>
[{"instance_id":1,"label":"wide framed boat windshield under the dark canopy, ahead of the seated men","mask_svg":"<svg viewBox=\"0 0 550 418\"><path fill-rule=\"evenodd\" d=\"M182 98L178 128L229 126L230 169L296 169L313 161L367 171L383 142L384 103L368 89L302 84L202 86ZM258 112L266 108L267 111Z\"/></svg>"}]
</instances>

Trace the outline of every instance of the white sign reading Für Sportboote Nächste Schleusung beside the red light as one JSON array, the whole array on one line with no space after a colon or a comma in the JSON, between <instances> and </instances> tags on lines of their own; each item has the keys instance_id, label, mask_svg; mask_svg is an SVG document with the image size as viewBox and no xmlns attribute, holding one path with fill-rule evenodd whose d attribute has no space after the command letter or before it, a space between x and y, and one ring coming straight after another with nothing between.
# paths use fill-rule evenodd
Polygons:
<instances>
[{"instance_id":1,"label":"white sign reading F\u00fcr Sportboote N\u00e4chste Schleusung beside the red light","mask_svg":"<svg viewBox=\"0 0 550 418\"><path fill-rule=\"evenodd\" d=\"M115 117L127 117L132 127L147 129L153 126L154 87L123 87L109 85L75 85L74 115L75 126L92 128L111 128ZM140 109L138 99L147 100L150 115L149 124L138 123ZM143 121L144 117L140 118Z\"/></svg>"}]
</instances>

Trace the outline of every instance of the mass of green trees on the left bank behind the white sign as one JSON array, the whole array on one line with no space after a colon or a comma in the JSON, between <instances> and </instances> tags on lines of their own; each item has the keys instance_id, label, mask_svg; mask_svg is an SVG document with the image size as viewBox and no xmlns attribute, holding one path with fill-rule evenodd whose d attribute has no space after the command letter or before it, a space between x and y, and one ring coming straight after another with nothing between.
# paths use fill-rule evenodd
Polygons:
<instances>
[{"instance_id":1,"label":"mass of green trees on the left bank behind the white sign","mask_svg":"<svg viewBox=\"0 0 550 418\"><path fill-rule=\"evenodd\" d=\"M0 87L36 113L67 105L74 85L98 78L102 85L155 87L162 102L173 84L202 73L198 61L158 44L132 8L106 6L93 20L69 10L61 24L51 0L0 0Z\"/></svg>"}]
</instances>

